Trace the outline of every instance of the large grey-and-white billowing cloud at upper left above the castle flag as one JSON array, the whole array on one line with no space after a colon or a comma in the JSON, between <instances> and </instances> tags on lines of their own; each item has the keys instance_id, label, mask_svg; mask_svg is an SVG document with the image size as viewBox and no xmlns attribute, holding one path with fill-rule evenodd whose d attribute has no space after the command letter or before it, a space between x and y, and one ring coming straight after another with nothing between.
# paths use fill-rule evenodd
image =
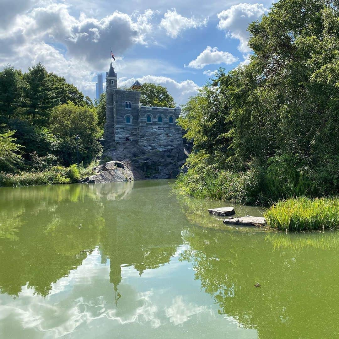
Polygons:
<instances>
[{"instance_id":1,"label":"large grey-and-white billowing cloud at upper left above the castle flag","mask_svg":"<svg viewBox=\"0 0 339 339\"><path fill-rule=\"evenodd\" d=\"M62 44L67 58L75 58L100 69L109 58L109 48L122 55L134 44L147 44L147 34L152 31L151 19L154 11L148 9L142 14L129 16L114 12L102 19L87 18L81 14L75 18L69 14L69 6L63 3L50 3L35 7L29 13L21 14L11 28L0 34L3 53L21 45L14 45L15 37L30 45L44 41L50 45ZM3 40L12 40L5 45ZM14 46L14 47L13 47ZM1 64L0 60L0 64Z\"/></svg>"}]
</instances>

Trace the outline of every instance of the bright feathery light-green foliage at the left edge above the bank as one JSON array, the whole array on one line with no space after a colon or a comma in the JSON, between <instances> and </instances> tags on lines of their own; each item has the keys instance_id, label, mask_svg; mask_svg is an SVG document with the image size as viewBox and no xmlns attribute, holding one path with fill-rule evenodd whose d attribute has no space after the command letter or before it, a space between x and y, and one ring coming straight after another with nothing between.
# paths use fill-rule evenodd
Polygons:
<instances>
[{"instance_id":1,"label":"bright feathery light-green foliage at the left edge above the bank","mask_svg":"<svg viewBox=\"0 0 339 339\"><path fill-rule=\"evenodd\" d=\"M13 138L15 131L9 131L0 134L0 171L15 168L22 163L22 157L17 153L22 148L16 144L16 138Z\"/></svg>"}]
</instances>

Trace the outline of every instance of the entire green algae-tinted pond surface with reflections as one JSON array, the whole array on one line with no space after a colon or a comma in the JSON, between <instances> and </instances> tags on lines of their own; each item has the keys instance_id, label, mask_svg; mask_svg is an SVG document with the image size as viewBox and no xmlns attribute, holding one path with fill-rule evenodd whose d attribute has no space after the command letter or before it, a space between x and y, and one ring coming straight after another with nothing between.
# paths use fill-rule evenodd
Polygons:
<instances>
[{"instance_id":1,"label":"entire green algae-tinted pond surface with reflections","mask_svg":"<svg viewBox=\"0 0 339 339\"><path fill-rule=\"evenodd\" d=\"M168 180L0 188L0 338L338 338L339 233L221 205Z\"/></svg>"}]
</instances>

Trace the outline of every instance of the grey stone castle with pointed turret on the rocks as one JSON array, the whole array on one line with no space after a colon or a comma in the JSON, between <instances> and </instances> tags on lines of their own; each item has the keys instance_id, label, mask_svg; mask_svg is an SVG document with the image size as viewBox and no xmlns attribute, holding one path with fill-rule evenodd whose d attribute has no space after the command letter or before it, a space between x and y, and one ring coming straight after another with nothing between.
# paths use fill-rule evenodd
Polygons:
<instances>
[{"instance_id":1,"label":"grey stone castle with pointed turret on the rocks","mask_svg":"<svg viewBox=\"0 0 339 339\"><path fill-rule=\"evenodd\" d=\"M118 89L111 63L106 76L105 142L121 142L128 137L148 151L183 147L181 127L176 124L180 107L141 106L141 86L136 81L132 91Z\"/></svg>"}]
</instances>

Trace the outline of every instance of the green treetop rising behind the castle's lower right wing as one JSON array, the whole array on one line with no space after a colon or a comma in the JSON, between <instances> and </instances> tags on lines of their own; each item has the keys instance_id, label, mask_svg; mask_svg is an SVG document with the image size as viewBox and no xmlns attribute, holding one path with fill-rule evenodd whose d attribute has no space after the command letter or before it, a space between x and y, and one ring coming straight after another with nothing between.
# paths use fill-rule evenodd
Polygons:
<instances>
[{"instance_id":1,"label":"green treetop rising behind the castle's lower right wing","mask_svg":"<svg viewBox=\"0 0 339 339\"><path fill-rule=\"evenodd\" d=\"M166 87L148 82L141 87L140 103L144 106L175 107L174 99Z\"/></svg>"}]
</instances>

